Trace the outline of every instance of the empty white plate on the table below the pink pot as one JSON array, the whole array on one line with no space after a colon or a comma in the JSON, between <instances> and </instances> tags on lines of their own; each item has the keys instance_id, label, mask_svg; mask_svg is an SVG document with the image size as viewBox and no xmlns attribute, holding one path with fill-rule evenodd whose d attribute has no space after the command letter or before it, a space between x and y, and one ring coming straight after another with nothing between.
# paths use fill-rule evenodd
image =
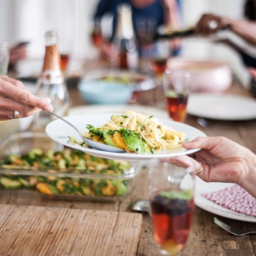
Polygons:
<instances>
[{"instance_id":1,"label":"empty white plate on the table below the pink pot","mask_svg":"<svg viewBox=\"0 0 256 256\"><path fill-rule=\"evenodd\" d=\"M256 101L237 95L195 93L189 96L187 112L210 119L251 120L256 118Z\"/></svg>"}]
</instances>

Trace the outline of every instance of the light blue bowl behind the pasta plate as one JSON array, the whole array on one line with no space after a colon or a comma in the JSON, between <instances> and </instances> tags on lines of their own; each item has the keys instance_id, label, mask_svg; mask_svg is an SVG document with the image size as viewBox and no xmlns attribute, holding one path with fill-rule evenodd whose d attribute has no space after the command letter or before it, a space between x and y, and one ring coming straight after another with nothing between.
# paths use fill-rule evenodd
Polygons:
<instances>
[{"instance_id":1,"label":"light blue bowl behind the pasta plate","mask_svg":"<svg viewBox=\"0 0 256 256\"><path fill-rule=\"evenodd\" d=\"M79 91L90 104L126 104L132 97L133 85L106 80L81 80Z\"/></svg>"}]
</instances>

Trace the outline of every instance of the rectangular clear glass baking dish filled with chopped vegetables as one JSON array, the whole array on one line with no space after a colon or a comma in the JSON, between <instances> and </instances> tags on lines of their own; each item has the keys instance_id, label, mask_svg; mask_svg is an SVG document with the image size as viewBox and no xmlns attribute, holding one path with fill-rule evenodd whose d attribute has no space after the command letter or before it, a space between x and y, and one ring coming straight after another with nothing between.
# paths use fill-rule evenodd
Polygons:
<instances>
[{"instance_id":1,"label":"rectangular clear glass baking dish filled with chopped vegetables","mask_svg":"<svg viewBox=\"0 0 256 256\"><path fill-rule=\"evenodd\" d=\"M140 167L64 148L46 133L16 132L0 140L0 190L48 198L115 201L126 197ZM1 192L0 192L1 193Z\"/></svg>"}]
</instances>

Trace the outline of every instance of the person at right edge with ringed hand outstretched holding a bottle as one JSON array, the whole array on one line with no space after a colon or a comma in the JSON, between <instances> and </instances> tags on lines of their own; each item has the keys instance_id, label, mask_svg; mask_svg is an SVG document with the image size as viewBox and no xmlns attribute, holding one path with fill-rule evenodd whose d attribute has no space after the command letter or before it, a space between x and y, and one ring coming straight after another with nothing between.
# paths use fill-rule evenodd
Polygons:
<instances>
[{"instance_id":1,"label":"person at right edge with ringed hand outstretched holding a bottle","mask_svg":"<svg viewBox=\"0 0 256 256\"><path fill-rule=\"evenodd\" d=\"M242 45L234 43L229 38L219 39L216 42L224 43L229 48L234 49L247 68L250 68L251 75L256 69L256 0L247 0L244 5L244 16L246 20L236 20L225 16L205 14L199 19L196 32L199 36L209 36L219 30L229 27L235 35L243 39ZM256 98L256 77L252 76L250 89Z\"/></svg>"}]
</instances>

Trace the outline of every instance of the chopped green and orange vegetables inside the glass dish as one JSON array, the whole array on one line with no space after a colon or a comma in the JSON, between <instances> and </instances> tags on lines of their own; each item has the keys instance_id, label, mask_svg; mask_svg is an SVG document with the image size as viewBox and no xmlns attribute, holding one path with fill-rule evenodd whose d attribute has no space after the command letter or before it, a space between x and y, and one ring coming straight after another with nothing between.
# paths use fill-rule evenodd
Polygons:
<instances>
[{"instance_id":1,"label":"chopped green and orange vegetables inside the glass dish","mask_svg":"<svg viewBox=\"0 0 256 256\"><path fill-rule=\"evenodd\" d=\"M126 161L113 161L88 155L81 151L65 149L60 152L48 150L44 153L38 148L31 149L27 155L10 155L0 162L5 169L43 170L48 176L22 176L3 174L0 184L6 189L20 187L37 188L48 195L74 195L90 197L121 197L127 192L129 180L65 177L66 173L97 174L121 176L130 169ZM71 170L71 171L70 171ZM63 176L56 176L57 172ZM55 174L55 175L54 175Z\"/></svg>"}]
</instances>

